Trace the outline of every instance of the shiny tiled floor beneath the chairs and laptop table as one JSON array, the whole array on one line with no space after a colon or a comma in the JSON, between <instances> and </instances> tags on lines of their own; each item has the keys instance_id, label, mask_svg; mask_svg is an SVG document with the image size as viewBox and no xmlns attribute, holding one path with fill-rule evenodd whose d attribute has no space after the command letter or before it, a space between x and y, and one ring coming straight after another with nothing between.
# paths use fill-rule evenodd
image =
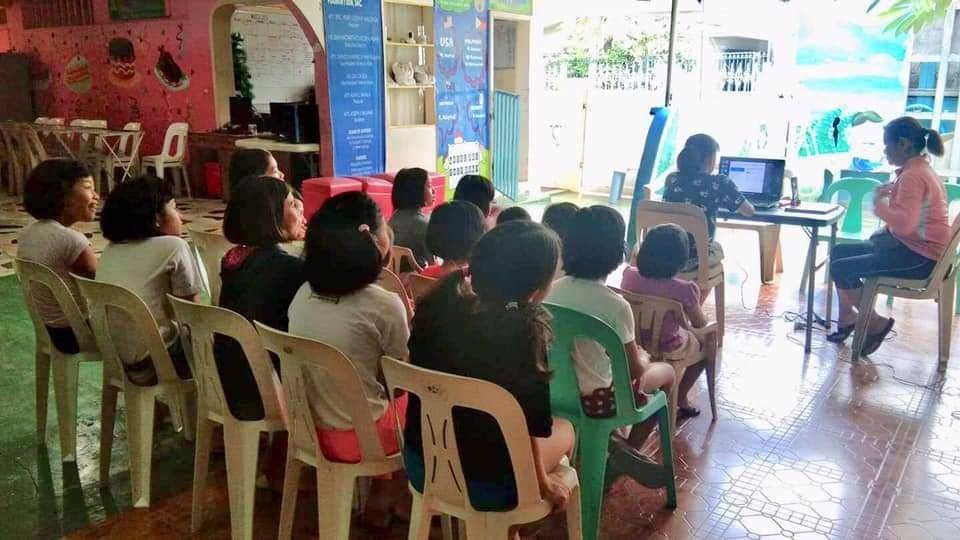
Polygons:
<instances>
[{"instance_id":1,"label":"shiny tiled floor beneath the chairs and laptop table","mask_svg":"<svg viewBox=\"0 0 960 540\"><path fill-rule=\"evenodd\" d=\"M194 205L217 215L215 203ZM5 227L22 218L11 218L9 204L0 208L6 251ZM605 499L601 536L960 538L960 371L937 372L934 304L897 300L897 334L870 360L851 364L848 348L821 332L805 356L802 334L785 320L800 302L802 233L784 231L786 273L764 287L755 236L720 234L728 274L719 418L710 421L701 384L694 403L704 414L675 440L679 507L667 511L662 493L620 479ZM53 412L48 447L34 446L30 327L16 292L12 277L0 278L0 537L190 537L192 447L169 427L157 436L149 510L130 509L122 427L110 484L97 485L97 366L82 376L77 465L60 466ZM195 537L228 538L222 458L212 470L208 521ZM279 498L264 490L257 497L257 537L274 538ZM318 532L315 498L302 495L296 536ZM562 521L548 520L536 537L562 535ZM406 528L355 527L353 537L405 538Z\"/></svg>"}]
</instances>

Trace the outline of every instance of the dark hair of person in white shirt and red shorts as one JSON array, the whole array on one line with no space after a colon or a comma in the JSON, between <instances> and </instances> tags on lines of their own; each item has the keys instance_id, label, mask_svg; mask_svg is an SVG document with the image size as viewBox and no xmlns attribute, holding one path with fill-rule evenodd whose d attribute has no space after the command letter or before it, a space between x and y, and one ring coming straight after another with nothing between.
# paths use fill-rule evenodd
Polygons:
<instances>
[{"instance_id":1,"label":"dark hair of person in white shirt and red shorts","mask_svg":"<svg viewBox=\"0 0 960 540\"><path fill-rule=\"evenodd\" d=\"M383 226L380 209L364 193L327 199L310 218L304 242L304 273L313 292L344 296L377 281L383 261L374 235Z\"/></svg>"}]
</instances>

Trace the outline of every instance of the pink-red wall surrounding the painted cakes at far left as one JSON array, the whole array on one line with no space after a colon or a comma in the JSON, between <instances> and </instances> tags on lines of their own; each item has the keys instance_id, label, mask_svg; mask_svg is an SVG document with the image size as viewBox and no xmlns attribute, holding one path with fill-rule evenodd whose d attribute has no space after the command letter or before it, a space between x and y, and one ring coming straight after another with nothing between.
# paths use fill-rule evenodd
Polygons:
<instances>
[{"instance_id":1,"label":"pink-red wall surrounding the painted cakes at far left","mask_svg":"<svg viewBox=\"0 0 960 540\"><path fill-rule=\"evenodd\" d=\"M95 0L92 26L23 30L18 4L8 9L13 49L32 54L38 115L106 119L111 128L139 121L146 130L144 153L157 153L167 126L187 122L191 130L216 127L210 59L210 12L216 0L169 0L170 17L130 22L110 20L108 0ZM128 39L135 54L134 84L117 85L108 45ZM160 47L170 53L189 86L172 90L154 74ZM84 57L90 89L72 91L64 82L68 62ZM44 73L48 74L44 77Z\"/></svg>"}]
</instances>

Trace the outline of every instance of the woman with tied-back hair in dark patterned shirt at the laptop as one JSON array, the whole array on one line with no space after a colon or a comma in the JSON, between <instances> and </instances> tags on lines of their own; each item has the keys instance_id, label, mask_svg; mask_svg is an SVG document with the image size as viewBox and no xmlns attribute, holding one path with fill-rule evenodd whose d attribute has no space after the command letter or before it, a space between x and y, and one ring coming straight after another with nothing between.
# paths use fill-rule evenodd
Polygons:
<instances>
[{"instance_id":1,"label":"woman with tied-back hair in dark patterned shirt at the laptop","mask_svg":"<svg viewBox=\"0 0 960 540\"><path fill-rule=\"evenodd\" d=\"M717 168L720 145L713 137L698 133L692 135L677 156L677 172L667 176L663 200L699 206L707 217L707 234L710 237L710 265L723 260L723 248L713 238L717 230L717 211L725 208L744 216L753 214L753 205L747 201L737 185L726 175L713 174ZM681 272L697 269L697 248L690 240L690 256ZM704 291L703 298L710 291Z\"/></svg>"}]
</instances>

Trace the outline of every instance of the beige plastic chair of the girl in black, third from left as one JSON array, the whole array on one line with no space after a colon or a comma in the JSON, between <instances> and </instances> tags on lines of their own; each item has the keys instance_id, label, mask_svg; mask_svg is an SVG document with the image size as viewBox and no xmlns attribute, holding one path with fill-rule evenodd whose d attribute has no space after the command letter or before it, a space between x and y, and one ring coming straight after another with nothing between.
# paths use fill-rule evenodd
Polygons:
<instances>
[{"instance_id":1,"label":"beige plastic chair of the girl in black, third from left","mask_svg":"<svg viewBox=\"0 0 960 540\"><path fill-rule=\"evenodd\" d=\"M257 331L243 316L227 309L195 304L167 295L180 332L189 336L197 381L197 439L193 461L193 520L191 530L203 526L210 442L217 424L223 425L227 457L227 490L230 496L230 537L253 538L253 509L257 458L261 433L286 431L277 399L280 381ZM226 394L214 358L215 335L236 340L253 372L263 402L261 420L240 420L227 406ZM237 369L242 369L237 366Z\"/></svg>"}]
</instances>

